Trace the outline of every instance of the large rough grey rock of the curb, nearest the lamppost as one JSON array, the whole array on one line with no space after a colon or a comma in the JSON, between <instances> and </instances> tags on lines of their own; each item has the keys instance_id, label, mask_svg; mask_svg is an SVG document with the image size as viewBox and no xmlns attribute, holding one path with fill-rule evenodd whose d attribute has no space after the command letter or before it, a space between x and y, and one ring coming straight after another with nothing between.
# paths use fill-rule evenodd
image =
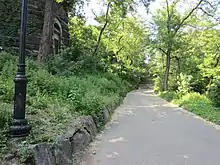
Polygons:
<instances>
[{"instance_id":1,"label":"large rough grey rock of the curb, nearest the lamppost","mask_svg":"<svg viewBox=\"0 0 220 165\"><path fill-rule=\"evenodd\" d=\"M67 133L58 136L54 144L37 144L33 147L36 165L72 165L73 155L85 149L97 134L90 116L79 117Z\"/></svg>"}]
</instances>

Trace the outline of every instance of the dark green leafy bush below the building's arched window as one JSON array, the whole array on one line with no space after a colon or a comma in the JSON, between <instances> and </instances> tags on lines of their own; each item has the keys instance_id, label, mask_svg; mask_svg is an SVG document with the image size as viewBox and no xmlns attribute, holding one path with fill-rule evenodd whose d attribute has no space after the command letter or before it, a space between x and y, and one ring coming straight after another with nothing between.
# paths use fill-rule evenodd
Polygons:
<instances>
[{"instance_id":1,"label":"dark green leafy bush below the building's arched window","mask_svg":"<svg viewBox=\"0 0 220 165\"><path fill-rule=\"evenodd\" d=\"M47 70L53 75L71 76L84 73L104 72L104 64L99 56L84 55L75 57L74 50L67 48L51 56L47 61Z\"/></svg>"}]
</instances>

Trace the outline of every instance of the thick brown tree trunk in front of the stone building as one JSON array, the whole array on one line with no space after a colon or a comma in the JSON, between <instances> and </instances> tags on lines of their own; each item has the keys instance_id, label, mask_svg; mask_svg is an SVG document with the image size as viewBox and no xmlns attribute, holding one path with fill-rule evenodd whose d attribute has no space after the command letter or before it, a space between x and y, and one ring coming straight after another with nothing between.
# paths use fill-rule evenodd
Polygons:
<instances>
[{"instance_id":1,"label":"thick brown tree trunk in front of the stone building","mask_svg":"<svg viewBox=\"0 0 220 165\"><path fill-rule=\"evenodd\" d=\"M37 56L37 61L40 63L42 59L52 53L52 35L54 23L54 0L46 0L44 10L44 25L41 35L40 48Z\"/></svg>"}]
</instances>

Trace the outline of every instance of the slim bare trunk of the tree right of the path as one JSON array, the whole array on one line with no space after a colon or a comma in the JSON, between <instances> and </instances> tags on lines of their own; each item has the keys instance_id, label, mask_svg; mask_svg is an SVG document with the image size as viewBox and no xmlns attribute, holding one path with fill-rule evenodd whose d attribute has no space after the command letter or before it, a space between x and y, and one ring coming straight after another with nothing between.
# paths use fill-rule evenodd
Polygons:
<instances>
[{"instance_id":1,"label":"slim bare trunk of the tree right of the path","mask_svg":"<svg viewBox=\"0 0 220 165\"><path fill-rule=\"evenodd\" d=\"M166 69L165 69L165 73L164 73L164 82L163 82L164 91L168 90L168 80L169 80L169 73L170 73L170 60L171 60L171 50L168 50L167 54L166 54Z\"/></svg>"}]
</instances>

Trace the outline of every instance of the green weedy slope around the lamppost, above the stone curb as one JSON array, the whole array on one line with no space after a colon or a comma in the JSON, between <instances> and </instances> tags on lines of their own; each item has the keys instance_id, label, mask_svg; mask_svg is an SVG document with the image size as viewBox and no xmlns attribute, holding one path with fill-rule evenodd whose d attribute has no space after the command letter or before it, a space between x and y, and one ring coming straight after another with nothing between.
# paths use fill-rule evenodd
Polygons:
<instances>
[{"instance_id":1,"label":"green weedy slope around the lamppost, above the stone curb","mask_svg":"<svg viewBox=\"0 0 220 165\"><path fill-rule=\"evenodd\" d=\"M10 54L0 53L0 160L13 152L10 148L15 150L8 143L7 132L13 107L16 60ZM91 115L101 127L102 110L118 105L132 89L128 81L112 73L53 75L30 59L27 74L27 119L33 128L25 144L17 146L21 154L26 153L29 144L54 141L77 116Z\"/></svg>"}]
</instances>

